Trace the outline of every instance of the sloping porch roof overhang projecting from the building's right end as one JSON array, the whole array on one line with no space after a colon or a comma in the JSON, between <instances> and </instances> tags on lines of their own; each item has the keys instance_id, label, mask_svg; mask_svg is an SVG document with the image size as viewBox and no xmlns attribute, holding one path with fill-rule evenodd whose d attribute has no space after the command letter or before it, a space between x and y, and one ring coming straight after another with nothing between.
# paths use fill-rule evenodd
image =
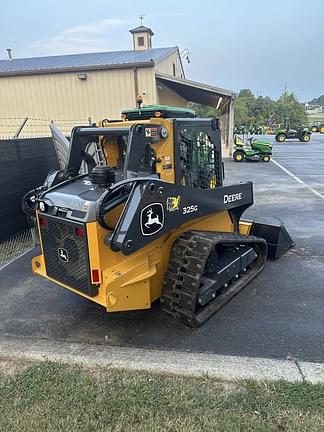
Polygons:
<instances>
[{"instance_id":1,"label":"sloping porch roof overhang projecting from the building's right end","mask_svg":"<svg viewBox=\"0 0 324 432\"><path fill-rule=\"evenodd\" d=\"M165 85L189 102L219 108L223 111L235 97L233 90L210 86L197 81L157 73L157 83Z\"/></svg>"}]
</instances>

